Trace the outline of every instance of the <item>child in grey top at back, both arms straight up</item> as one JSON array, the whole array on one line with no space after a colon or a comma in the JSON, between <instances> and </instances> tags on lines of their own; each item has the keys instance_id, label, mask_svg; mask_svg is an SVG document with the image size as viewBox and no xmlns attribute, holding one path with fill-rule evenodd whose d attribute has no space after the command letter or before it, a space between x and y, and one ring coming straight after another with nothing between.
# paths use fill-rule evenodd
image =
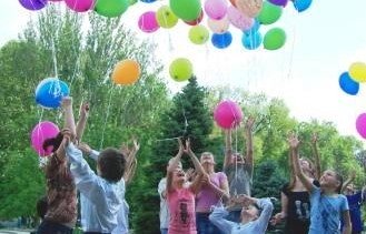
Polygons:
<instances>
[{"instance_id":1,"label":"child in grey top at back, both arms straight up","mask_svg":"<svg viewBox=\"0 0 366 234\"><path fill-rule=\"evenodd\" d=\"M233 153L231 130L226 132L226 154L224 161L224 172L228 177L230 196L246 194L250 196L253 183L253 134L254 119L249 118L245 124L246 156ZM228 220L240 222L241 206L230 207Z\"/></svg>"}]
</instances>

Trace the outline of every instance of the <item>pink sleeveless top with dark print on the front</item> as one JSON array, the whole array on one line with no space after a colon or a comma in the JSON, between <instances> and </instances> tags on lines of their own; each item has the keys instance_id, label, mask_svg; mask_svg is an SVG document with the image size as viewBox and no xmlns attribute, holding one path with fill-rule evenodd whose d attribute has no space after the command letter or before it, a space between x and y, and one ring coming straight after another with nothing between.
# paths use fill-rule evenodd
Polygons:
<instances>
[{"instance_id":1,"label":"pink sleeveless top with dark print on the front","mask_svg":"<svg viewBox=\"0 0 366 234\"><path fill-rule=\"evenodd\" d=\"M195 194L188 189L168 193L169 234L197 234Z\"/></svg>"}]
</instances>

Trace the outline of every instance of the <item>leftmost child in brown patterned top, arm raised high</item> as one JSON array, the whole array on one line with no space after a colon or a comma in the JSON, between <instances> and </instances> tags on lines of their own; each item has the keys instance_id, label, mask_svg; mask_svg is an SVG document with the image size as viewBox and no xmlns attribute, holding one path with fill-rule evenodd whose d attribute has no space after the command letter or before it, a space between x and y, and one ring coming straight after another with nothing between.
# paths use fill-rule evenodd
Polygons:
<instances>
[{"instance_id":1,"label":"leftmost child in brown patterned top, arm raised high","mask_svg":"<svg viewBox=\"0 0 366 234\"><path fill-rule=\"evenodd\" d=\"M43 149L52 146L52 155L44 167L48 208L38 227L39 234L71 234L77 221L77 191L65 151L66 136L76 135L72 99L63 98L61 106L65 111L65 125L68 129L43 143Z\"/></svg>"}]
</instances>

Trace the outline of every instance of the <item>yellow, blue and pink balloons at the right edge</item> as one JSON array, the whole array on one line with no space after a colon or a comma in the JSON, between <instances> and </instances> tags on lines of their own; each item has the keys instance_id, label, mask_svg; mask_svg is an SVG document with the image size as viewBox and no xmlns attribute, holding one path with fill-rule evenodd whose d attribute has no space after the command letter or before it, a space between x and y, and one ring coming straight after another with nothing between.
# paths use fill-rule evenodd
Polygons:
<instances>
[{"instance_id":1,"label":"yellow, blue and pink balloons at the right edge","mask_svg":"<svg viewBox=\"0 0 366 234\"><path fill-rule=\"evenodd\" d=\"M364 82L366 82L366 63L364 62L352 63L348 71L339 75L339 87L349 95L356 95L359 91L359 83ZM366 139L366 113L358 115L356 130L363 139Z\"/></svg>"}]
</instances>

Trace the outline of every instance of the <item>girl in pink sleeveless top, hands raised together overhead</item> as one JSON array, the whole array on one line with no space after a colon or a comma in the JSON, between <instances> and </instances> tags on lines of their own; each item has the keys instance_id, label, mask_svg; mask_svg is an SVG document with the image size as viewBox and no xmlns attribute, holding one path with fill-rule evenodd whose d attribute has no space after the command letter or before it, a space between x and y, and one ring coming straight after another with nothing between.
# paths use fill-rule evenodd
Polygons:
<instances>
[{"instance_id":1,"label":"girl in pink sleeveless top, hands raised together overhead","mask_svg":"<svg viewBox=\"0 0 366 234\"><path fill-rule=\"evenodd\" d=\"M189 141L184 147L180 139L178 154L172 157L167 170L167 200L169 208L169 234L197 234L195 216L195 195L198 192L204 169L190 149ZM186 153L192 161L197 176L187 183L185 171L178 166L181 155Z\"/></svg>"}]
</instances>

